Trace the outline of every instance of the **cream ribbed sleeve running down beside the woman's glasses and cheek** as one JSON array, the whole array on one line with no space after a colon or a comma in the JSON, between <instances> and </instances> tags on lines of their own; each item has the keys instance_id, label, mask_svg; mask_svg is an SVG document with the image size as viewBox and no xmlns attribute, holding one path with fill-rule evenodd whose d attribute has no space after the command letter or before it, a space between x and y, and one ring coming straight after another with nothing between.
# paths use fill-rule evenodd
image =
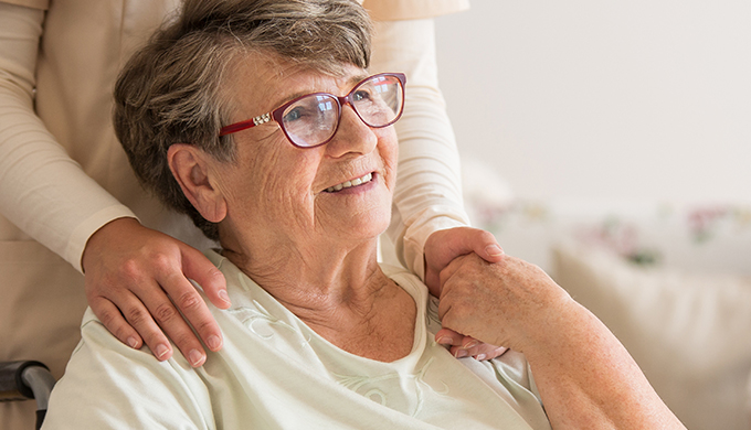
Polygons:
<instances>
[{"instance_id":1,"label":"cream ribbed sleeve running down beside the woman's glasses and cheek","mask_svg":"<svg viewBox=\"0 0 751 430\"><path fill-rule=\"evenodd\" d=\"M377 22L371 68L406 74L404 114L395 125L399 176L388 235L400 262L424 278L427 237L469 223L456 140L438 89L433 20Z\"/></svg>"}]
</instances>

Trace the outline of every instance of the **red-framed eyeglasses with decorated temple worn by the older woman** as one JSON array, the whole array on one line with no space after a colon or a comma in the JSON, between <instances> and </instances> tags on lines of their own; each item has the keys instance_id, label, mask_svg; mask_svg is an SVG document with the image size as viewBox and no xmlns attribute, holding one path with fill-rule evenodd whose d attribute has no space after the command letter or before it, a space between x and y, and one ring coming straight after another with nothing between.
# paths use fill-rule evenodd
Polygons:
<instances>
[{"instance_id":1,"label":"red-framed eyeglasses with decorated temple worn by the older woman","mask_svg":"<svg viewBox=\"0 0 751 430\"><path fill-rule=\"evenodd\" d=\"M343 105L351 106L368 127L383 128L396 122L404 109L405 83L406 76L402 73L380 73L360 80L343 97L329 93L297 97L268 114L225 126L219 136L235 133L274 119L295 147L318 147L337 133Z\"/></svg>"}]
</instances>

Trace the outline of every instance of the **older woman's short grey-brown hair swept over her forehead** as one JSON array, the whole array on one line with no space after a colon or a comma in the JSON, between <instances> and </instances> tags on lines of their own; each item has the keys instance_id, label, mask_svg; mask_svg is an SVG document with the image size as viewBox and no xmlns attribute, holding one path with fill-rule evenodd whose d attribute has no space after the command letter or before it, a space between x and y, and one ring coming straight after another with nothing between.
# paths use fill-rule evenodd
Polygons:
<instances>
[{"instance_id":1,"label":"older woman's short grey-brown hair swept over her forehead","mask_svg":"<svg viewBox=\"0 0 751 430\"><path fill-rule=\"evenodd\" d=\"M115 87L115 132L136 176L168 207L188 214L213 240L167 162L173 143L234 160L232 136L219 137L232 106L222 92L229 67L248 52L271 53L330 75L367 68L371 22L356 0L186 0L126 64Z\"/></svg>"}]
</instances>

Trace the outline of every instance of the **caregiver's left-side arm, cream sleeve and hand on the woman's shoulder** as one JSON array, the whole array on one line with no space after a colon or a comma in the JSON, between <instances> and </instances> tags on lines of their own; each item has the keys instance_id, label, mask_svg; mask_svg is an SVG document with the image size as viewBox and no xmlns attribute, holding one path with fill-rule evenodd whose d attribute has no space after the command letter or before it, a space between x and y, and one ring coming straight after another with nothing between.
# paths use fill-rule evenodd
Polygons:
<instances>
[{"instance_id":1,"label":"caregiver's left-side arm, cream sleeve and hand on the woman's shoulder","mask_svg":"<svg viewBox=\"0 0 751 430\"><path fill-rule=\"evenodd\" d=\"M0 2L0 211L85 270L92 309L121 342L140 347L146 340L152 351L169 347L151 312L186 356L193 350L202 354L165 292L211 345L208 341L212 335L221 340L221 332L186 276L201 283L218 307L229 305L221 297L224 280L201 252L141 226L46 130L33 107L43 23L42 10ZM171 348L160 358L169 355Z\"/></svg>"}]
</instances>

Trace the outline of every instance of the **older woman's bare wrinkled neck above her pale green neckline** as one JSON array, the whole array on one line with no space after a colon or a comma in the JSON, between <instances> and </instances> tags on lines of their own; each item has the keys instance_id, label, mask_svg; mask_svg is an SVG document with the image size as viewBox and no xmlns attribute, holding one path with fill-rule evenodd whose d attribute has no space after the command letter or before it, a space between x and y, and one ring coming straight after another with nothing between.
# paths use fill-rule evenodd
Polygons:
<instances>
[{"instance_id":1,"label":"older woman's bare wrinkled neck above her pale green neckline","mask_svg":"<svg viewBox=\"0 0 751 430\"><path fill-rule=\"evenodd\" d=\"M377 246L321 244L224 256L327 341L356 355L391 362L412 348L413 299L377 261ZM262 256L253 258L252 256Z\"/></svg>"}]
</instances>

